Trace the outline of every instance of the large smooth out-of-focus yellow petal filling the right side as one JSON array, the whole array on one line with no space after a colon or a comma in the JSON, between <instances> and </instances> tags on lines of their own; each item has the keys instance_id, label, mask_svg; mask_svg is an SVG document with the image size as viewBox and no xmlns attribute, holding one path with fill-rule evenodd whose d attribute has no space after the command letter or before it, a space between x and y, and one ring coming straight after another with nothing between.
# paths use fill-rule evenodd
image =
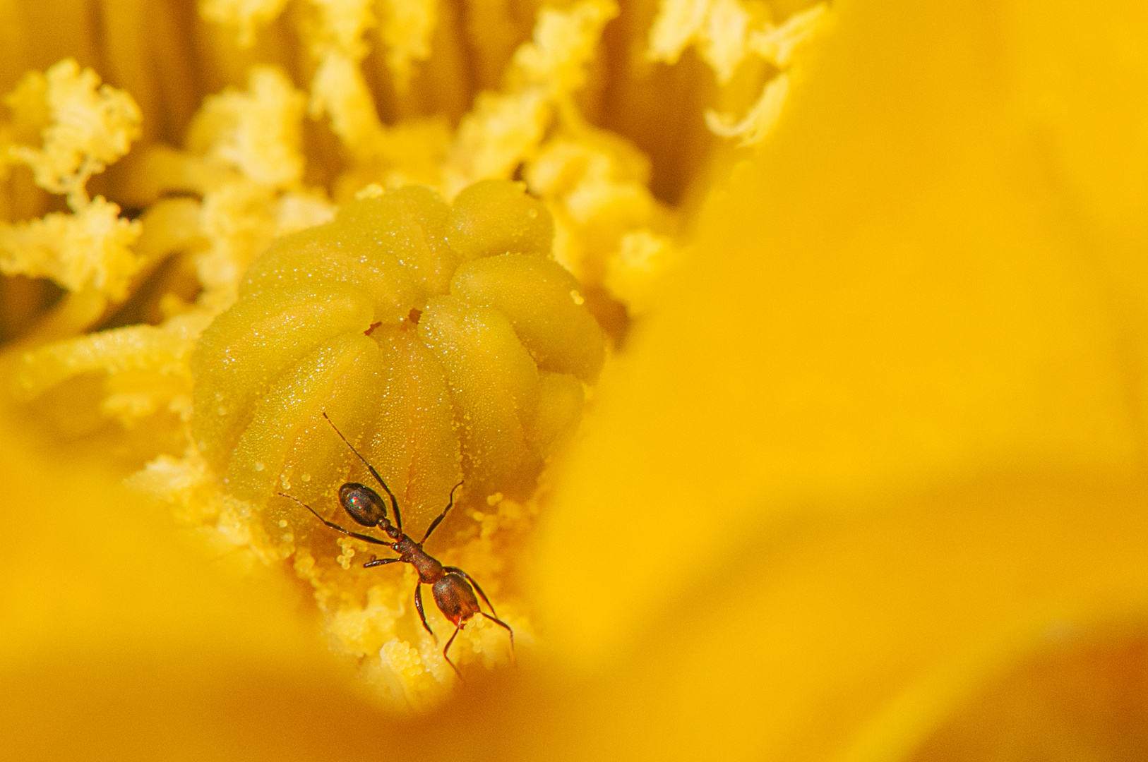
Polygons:
<instances>
[{"instance_id":1,"label":"large smooth out-of-focus yellow petal filling the right side","mask_svg":"<svg viewBox=\"0 0 1148 762\"><path fill-rule=\"evenodd\" d=\"M540 551L554 658L625 686L582 759L894 759L881 723L923 733L1057 622L1143 615L1148 65L1037 16L843 6L712 200ZM1069 42L1107 108L1049 69Z\"/></svg>"}]
</instances>

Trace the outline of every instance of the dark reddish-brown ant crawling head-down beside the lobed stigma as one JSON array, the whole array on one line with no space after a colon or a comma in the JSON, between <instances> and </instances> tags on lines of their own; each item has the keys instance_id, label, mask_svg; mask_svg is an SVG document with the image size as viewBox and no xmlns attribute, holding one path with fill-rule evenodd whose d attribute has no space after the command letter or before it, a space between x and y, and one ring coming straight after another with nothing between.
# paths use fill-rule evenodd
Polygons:
<instances>
[{"instance_id":1,"label":"dark reddish-brown ant crawling head-down beside the lobed stigma","mask_svg":"<svg viewBox=\"0 0 1148 762\"><path fill-rule=\"evenodd\" d=\"M455 625L455 632L450 636L450 639L447 640L447 645L442 650L442 658L445 659L447 663L451 666L451 669L455 670L455 674L458 675L459 679L463 679L463 672L458 671L458 667L456 667L455 662L450 660L447 652L450 650L450 644L455 642L455 637L458 635L459 630L463 629L463 625L466 624L475 614L486 616L488 620L505 628L506 631L510 632L510 651L513 655L514 630L510 629L510 624L506 624L506 622L498 619L498 613L490 604L490 599L487 598L487 594L482 592L482 588L479 586L479 583L472 580L466 572L463 572L455 566L443 566L422 550L422 543L430 537L430 532L433 532L435 528L442 523L442 520L447 518L447 512L455 505L455 491L463 485L463 482L459 482L451 488L450 501L447 504L447 507L443 508L437 519L430 522L430 526L427 527L426 534L422 535L422 539L416 543L408 535L403 534L403 516L398 512L398 500L395 499L395 493L390 491L389 487L387 487L387 482L382 481L382 476L380 476L379 472L374 469L374 466L367 462L366 458L359 454L359 451L347 441L347 437L339 430L339 427L336 427L334 422L327 418L326 412L323 413L323 418L331 423L331 428L335 429L335 434L338 434L339 438L342 440L348 448L350 448L351 452L354 452L355 456L363 461L363 465L366 466L367 471L371 472L371 475L374 476L374 481L379 482L379 485L382 487L382 491L390 498L390 508L395 512L395 523L390 523L390 520L387 518L387 505L383 503L382 498L379 497L379 493L365 484L347 482L340 487L339 504L343 506L343 510L347 511L348 514L350 514L351 519L364 527L378 527L381 529L387 537L390 538L390 542L379 539L378 537L371 537L370 535L362 535L356 531L348 531L339 524L327 521L320 516L316 513L315 508L298 498L294 498L284 492L279 492L279 496L295 500L304 508L313 513L316 519L332 529L341 531L350 537L355 537L356 539L362 539L366 543L386 545L398 553L398 558L375 559L375 557L372 555L371 560L363 565L363 568L397 563L400 561L410 563L414 567L414 569L419 573L419 581L414 585L414 608L419 613L419 619L422 620L422 627L426 628L427 632L430 633L430 637L433 637L435 643L437 643L439 636L436 636L434 630L430 629L430 625L427 624L426 614L422 613L424 583L430 585L430 592L434 594L434 602L437 604L439 611L441 611L443 616L450 620ZM487 614L479 608L479 601L474 597L475 590L479 591L482 600L486 601L487 606L490 608L490 614Z\"/></svg>"}]
</instances>

